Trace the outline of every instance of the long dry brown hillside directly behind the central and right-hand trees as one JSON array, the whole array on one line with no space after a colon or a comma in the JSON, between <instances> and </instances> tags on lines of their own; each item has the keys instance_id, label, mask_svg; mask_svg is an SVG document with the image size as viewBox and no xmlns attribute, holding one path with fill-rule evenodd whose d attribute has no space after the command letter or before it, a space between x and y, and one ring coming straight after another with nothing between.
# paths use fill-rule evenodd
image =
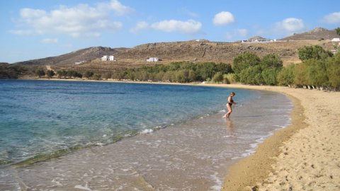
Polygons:
<instances>
[{"instance_id":1,"label":"long dry brown hillside directly behind the central and right-hand trees","mask_svg":"<svg viewBox=\"0 0 340 191\"><path fill-rule=\"evenodd\" d=\"M228 42L159 42L139 45L115 54L117 63L127 62L147 64L148 57L159 57L161 63L174 61L191 62L228 62L242 52L254 52L259 57L266 54L278 54L283 62L298 62L297 50L305 45L321 45L325 49L331 48L330 40L303 40L295 42L267 42L267 43L228 43Z\"/></svg>"}]
</instances>

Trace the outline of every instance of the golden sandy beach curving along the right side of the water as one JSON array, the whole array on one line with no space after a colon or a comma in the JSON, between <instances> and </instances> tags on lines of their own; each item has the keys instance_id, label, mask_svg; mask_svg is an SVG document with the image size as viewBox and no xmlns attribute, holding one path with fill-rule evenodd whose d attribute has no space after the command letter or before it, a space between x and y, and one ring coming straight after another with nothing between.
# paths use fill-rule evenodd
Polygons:
<instances>
[{"instance_id":1,"label":"golden sandy beach curving along the right side of the water","mask_svg":"<svg viewBox=\"0 0 340 191\"><path fill-rule=\"evenodd\" d=\"M340 190L340 92L212 86L276 91L292 98L295 105L292 124L232 166L223 190Z\"/></svg>"}]
</instances>

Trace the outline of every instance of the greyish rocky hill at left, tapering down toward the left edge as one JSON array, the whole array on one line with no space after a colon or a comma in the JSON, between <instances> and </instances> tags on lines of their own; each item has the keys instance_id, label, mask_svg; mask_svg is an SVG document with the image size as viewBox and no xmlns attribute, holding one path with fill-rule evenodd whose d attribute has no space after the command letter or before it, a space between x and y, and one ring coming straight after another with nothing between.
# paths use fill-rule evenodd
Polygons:
<instances>
[{"instance_id":1,"label":"greyish rocky hill at left, tapering down toward the left edge","mask_svg":"<svg viewBox=\"0 0 340 191\"><path fill-rule=\"evenodd\" d=\"M47 57L42 59L33 59L15 64L25 65L72 65L75 62L91 62L94 59L103 57L103 55L113 55L125 50L125 48L111 47L89 47L56 57Z\"/></svg>"}]
</instances>

